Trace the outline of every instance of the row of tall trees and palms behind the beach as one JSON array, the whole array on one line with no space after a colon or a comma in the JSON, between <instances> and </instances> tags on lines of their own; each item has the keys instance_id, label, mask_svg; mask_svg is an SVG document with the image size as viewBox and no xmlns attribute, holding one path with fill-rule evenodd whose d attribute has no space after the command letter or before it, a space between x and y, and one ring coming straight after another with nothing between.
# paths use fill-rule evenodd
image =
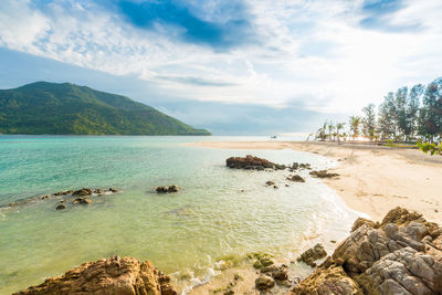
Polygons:
<instances>
[{"instance_id":1,"label":"row of tall trees and palms behind the beach","mask_svg":"<svg viewBox=\"0 0 442 295\"><path fill-rule=\"evenodd\" d=\"M389 92L376 107L362 108L362 116L350 116L346 123L325 122L316 140L438 143L442 139L442 77L428 85L417 84Z\"/></svg>"}]
</instances>

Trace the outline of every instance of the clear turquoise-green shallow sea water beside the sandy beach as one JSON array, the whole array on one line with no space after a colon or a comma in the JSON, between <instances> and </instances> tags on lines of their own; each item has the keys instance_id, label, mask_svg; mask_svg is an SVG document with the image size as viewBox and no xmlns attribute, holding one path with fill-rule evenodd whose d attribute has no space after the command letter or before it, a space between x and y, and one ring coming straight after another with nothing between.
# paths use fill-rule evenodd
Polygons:
<instances>
[{"instance_id":1,"label":"clear turquoise-green shallow sea water beside the sandy beach","mask_svg":"<svg viewBox=\"0 0 442 295\"><path fill-rule=\"evenodd\" d=\"M248 154L317 168L335 162L294 150L182 146L232 139L250 138L0 136L0 204L82 187L123 190L64 211L54 210L60 199L0 209L0 294L110 255L204 277L228 255L266 251L291 259L306 244L347 234L357 214L306 172L306 183L293 183L284 180L288 171L224 166ZM280 189L265 187L267 180ZM167 185L182 190L154 193Z\"/></svg>"}]
</instances>

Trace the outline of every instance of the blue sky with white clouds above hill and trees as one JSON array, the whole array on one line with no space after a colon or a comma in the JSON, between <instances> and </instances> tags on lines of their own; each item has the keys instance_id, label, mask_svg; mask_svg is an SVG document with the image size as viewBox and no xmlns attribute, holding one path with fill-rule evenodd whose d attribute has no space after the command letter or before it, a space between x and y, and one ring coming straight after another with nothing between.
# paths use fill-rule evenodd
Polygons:
<instances>
[{"instance_id":1,"label":"blue sky with white clouds above hill and trees","mask_svg":"<svg viewBox=\"0 0 442 295\"><path fill-rule=\"evenodd\" d=\"M441 0L1 0L0 88L71 82L219 135L309 133L442 76Z\"/></svg>"}]
</instances>

